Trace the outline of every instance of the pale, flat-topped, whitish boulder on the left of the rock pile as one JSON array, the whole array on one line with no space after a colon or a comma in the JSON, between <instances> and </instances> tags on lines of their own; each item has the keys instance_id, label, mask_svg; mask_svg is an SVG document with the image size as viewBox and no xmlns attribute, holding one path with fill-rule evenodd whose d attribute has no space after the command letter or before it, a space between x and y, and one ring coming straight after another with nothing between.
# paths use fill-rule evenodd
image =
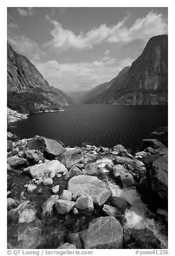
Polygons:
<instances>
[{"instance_id":1,"label":"pale, flat-topped, whitish boulder on the left of the rock pile","mask_svg":"<svg viewBox=\"0 0 175 256\"><path fill-rule=\"evenodd\" d=\"M39 179L39 177L43 174L49 174L51 177L54 177L56 173L65 174L68 172L68 170L58 160L52 160L41 163L40 165L27 167L24 169L24 172L29 173L35 179Z\"/></svg>"}]
</instances>

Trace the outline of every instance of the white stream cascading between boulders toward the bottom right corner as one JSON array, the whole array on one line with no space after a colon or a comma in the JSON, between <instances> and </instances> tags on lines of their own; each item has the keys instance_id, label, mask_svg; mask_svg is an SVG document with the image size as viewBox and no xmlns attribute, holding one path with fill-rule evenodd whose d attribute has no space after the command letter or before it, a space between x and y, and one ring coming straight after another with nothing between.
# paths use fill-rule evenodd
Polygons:
<instances>
[{"instance_id":1,"label":"white stream cascading between boulders toward the bottom right corner","mask_svg":"<svg viewBox=\"0 0 175 256\"><path fill-rule=\"evenodd\" d=\"M112 165L111 158L101 158L97 160L98 167L103 172L109 173L109 170L105 167L106 164ZM160 241L162 248L168 247L167 236L164 233L164 227L162 223L156 222L154 218L151 218L151 212L147 208L147 205L141 200L140 194L138 194L135 187L123 188L116 185L116 181L113 177L106 175L108 186L112 191L113 196L117 196L125 199L131 206L125 211L126 224L125 228L134 228L137 230L148 229L154 233L155 237Z\"/></svg>"}]
</instances>

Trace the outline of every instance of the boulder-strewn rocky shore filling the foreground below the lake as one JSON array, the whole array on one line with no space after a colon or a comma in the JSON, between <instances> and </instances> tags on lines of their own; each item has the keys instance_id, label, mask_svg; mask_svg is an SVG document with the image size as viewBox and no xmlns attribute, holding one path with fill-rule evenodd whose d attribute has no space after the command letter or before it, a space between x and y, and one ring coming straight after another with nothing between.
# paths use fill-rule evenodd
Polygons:
<instances>
[{"instance_id":1,"label":"boulder-strewn rocky shore filling the foreground below the lake","mask_svg":"<svg viewBox=\"0 0 175 256\"><path fill-rule=\"evenodd\" d=\"M8 248L139 247L126 224L136 190L167 224L167 148L156 139L133 156L122 145L65 148L35 136L8 142L7 162ZM144 248L161 248L152 232L152 243L142 236Z\"/></svg>"}]
</instances>

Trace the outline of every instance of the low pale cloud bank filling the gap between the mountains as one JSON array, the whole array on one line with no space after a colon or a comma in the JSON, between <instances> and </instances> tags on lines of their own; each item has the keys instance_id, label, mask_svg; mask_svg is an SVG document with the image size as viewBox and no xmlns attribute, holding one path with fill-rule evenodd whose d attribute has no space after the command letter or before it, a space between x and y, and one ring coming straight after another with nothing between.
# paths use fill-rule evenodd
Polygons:
<instances>
[{"instance_id":1,"label":"low pale cloud bank filling the gap between the mountains","mask_svg":"<svg viewBox=\"0 0 175 256\"><path fill-rule=\"evenodd\" d=\"M110 81L123 67L131 65L131 59L96 60L80 63L59 63L56 60L35 63L50 86L64 91L90 90L100 83Z\"/></svg>"}]
</instances>

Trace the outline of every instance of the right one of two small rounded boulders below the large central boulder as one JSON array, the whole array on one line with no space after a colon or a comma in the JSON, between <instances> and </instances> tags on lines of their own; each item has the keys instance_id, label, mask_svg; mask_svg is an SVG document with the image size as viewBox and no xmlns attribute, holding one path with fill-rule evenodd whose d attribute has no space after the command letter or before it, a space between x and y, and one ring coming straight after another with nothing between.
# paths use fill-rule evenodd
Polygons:
<instances>
[{"instance_id":1,"label":"right one of two small rounded boulders below the large central boulder","mask_svg":"<svg viewBox=\"0 0 175 256\"><path fill-rule=\"evenodd\" d=\"M93 200L89 195L79 196L75 202L75 207L79 210L93 211Z\"/></svg>"}]
</instances>

